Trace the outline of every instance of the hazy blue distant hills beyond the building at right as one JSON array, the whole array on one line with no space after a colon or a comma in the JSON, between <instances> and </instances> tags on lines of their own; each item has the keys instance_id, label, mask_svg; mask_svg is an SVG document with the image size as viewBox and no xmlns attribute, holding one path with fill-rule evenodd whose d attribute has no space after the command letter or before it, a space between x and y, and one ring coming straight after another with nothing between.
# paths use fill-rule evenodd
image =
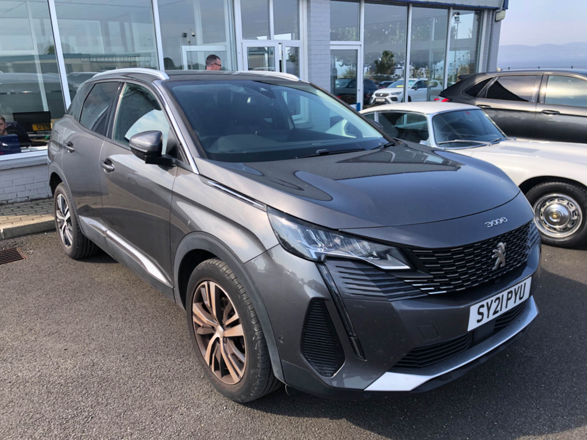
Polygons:
<instances>
[{"instance_id":1,"label":"hazy blue distant hills beyond the building at right","mask_svg":"<svg viewBox=\"0 0 587 440\"><path fill-rule=\"evenodd\" d=\"M497 66L501 69L565 67L587 69L587 42L564 45L500 45Z\"/></svg>"}]
</instances>

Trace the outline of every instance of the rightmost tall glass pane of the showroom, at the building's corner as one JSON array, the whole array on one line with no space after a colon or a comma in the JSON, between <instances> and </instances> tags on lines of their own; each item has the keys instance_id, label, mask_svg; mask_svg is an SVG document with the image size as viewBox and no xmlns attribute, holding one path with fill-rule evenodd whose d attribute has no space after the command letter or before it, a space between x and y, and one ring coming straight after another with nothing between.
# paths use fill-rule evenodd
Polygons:
<instances>
[{"instance_id":1,"label":"rightmost tall glass pane of the showroom, at the building's corner","mask_svg":"<svg viewBox=\"0 0 587 440\"><path fill-rule=\"evenodd\" d=\"M450 52L448 52L448 84L459 75L477 72L481 11L453 9L450 21Z\"/></svg>"}]
</instances>

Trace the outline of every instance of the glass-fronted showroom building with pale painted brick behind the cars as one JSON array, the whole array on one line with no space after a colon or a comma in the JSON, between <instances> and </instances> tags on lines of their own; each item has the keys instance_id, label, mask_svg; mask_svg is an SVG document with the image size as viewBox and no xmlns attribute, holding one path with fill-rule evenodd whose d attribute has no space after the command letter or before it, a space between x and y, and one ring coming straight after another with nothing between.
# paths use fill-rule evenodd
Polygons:
<instances>
[{"instance_id":1,"label":"glass-fronted showroom building with pale painted brick behind the cars","mask_svg":"<svg viewBox=\"0 0 587 440\"><path fill-rule=\"evenodd\" d=\"M425 79L419 99L431 100L459 75L495 69L495 15L506 7L507 0L0 0L0 114L30 141L21 153L0 149L0 203L48 197L39 170L50 124L97 72L205 69L214 53L224 70L292 73L357 108L376 84L409 78Z\"/></svg>"}]
</instances>

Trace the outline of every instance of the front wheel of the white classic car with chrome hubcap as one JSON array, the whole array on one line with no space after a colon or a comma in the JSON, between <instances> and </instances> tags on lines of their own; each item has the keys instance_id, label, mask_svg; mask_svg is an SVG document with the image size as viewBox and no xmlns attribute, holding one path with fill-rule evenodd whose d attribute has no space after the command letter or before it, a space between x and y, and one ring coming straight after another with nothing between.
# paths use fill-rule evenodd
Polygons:
<instances>
[{"instance_id":1,"label":"front wheel of the white classic car with chrome hubcap","mask_svg":"<svg viewBox=\"0 0 587 440\"><path fill-rule=\"evenodd\" d=\"M542 243L572 248L587 242L587 190L565 182L545 182L526 193Z\"/></svg>"}]
</instances>

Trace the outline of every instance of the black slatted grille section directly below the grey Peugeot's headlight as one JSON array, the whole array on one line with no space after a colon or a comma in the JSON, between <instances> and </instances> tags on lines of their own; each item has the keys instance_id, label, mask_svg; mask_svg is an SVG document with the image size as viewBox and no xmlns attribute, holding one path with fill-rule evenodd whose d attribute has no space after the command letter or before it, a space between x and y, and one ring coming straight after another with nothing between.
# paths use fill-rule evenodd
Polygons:
<instances>
[{"instance_id":1,"label":"black slatted grille section directly below the grey Peugeot's headlight","mask_svg":"<svg viewBox=\"0 0 587 440\"><path fill-rule=\"evenodd\" d=\"M326 266L342 295L394 300L426 295L417 287L365 263L328 259Z\"/></svg>"}]
</instances>

